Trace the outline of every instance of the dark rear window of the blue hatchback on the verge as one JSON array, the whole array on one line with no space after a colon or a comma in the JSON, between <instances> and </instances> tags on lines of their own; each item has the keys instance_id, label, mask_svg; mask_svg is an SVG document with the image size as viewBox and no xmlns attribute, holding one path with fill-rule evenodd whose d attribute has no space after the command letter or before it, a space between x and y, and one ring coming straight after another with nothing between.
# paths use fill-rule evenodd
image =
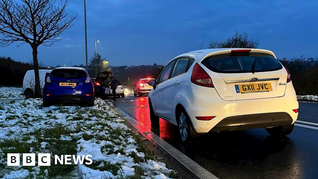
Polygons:
<instances>
[{"instance_id":1,"label":"dark rear window of the blue hatchback on the verge","mask_svg":"<svg viewBox=\"0 0 318 179\"><path fill-rule=\"evenodd\" d=\"M51 76L53 78L85 78L86 72L78 69L56 69L52 70Z\"/></svg>"}]
</instances>

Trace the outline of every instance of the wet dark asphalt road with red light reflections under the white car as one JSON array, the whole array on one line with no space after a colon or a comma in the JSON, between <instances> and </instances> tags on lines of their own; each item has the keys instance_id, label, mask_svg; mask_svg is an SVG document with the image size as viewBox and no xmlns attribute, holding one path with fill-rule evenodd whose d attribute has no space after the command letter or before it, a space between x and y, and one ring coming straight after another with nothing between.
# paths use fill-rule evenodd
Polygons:
<instances>
[{"instance_id":1,"label":"wet dark asphalt road with red light reflections under the white car","mask_svg":"<svg viewBox=\"0 0 318 179\"><path fill-rule=\"evenodd\" d=\"M121 110L141 123L220 179L316 179L318 178L318 104L299 103L299 121L288 137L273 138L265 129L217 132L203 135L196 143L178 142L177 127L160 119L151 126L148 97L117 98ZM307 123L311 122L311 123Z\"/></svg>"}]
</instances>

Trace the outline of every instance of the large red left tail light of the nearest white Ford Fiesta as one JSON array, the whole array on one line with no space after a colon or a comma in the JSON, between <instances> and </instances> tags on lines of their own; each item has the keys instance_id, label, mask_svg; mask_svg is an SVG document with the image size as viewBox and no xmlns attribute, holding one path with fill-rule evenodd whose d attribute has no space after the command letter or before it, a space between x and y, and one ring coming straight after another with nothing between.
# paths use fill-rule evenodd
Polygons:
<instances>
[{"instance_id":1,"label":"large red left tail light of the nearest white Ford Fiesta","mask_svg":"<svg viewBox=\"0 0 318 179\"><path fill-rule=\"evenodd\" d=\"M211 87L211 88L214 87L211 77L197 63L194 65L192 70L191 82L200 86Z\"/></svg>"}]
</instances>

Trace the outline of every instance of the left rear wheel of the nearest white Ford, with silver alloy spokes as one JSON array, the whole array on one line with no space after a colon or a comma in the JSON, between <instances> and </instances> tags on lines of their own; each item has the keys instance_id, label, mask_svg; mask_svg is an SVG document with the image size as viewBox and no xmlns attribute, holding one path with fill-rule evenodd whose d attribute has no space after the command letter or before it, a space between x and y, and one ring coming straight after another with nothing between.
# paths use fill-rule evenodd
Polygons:
<instances>
[{"instance_id":1,"label":"left rear wheel of the nearest white Ford, with silver alloy spokes","mask_svg":"<svg viewBox=\"0 0 318 179\"><path fill-rule=\"evenodd\" d=\"M190 118L184 109L179 113L178 128L180 140L183 143L190 143L200 137L200 134L193 129Z\"/></svg>"}]
</instances>

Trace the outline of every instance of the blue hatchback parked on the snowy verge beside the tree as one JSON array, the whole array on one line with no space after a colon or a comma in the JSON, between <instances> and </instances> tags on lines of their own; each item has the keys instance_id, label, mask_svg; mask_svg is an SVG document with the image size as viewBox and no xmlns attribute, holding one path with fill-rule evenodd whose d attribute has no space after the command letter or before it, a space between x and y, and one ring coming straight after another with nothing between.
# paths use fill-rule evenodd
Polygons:
<instances>
[{"instance_id":1,"label":"blue hatchback parked on the snowy verge beside the tree","mask_svg":"<svg viewBox=\"0 0 318 179\"><path fill-rule=\"evenodd\" d=\"M94 99L94 84L84 68L55 68L45 79L44 107L58 101L81 102L93 106Z\"/></svg>"}]
</instances>

